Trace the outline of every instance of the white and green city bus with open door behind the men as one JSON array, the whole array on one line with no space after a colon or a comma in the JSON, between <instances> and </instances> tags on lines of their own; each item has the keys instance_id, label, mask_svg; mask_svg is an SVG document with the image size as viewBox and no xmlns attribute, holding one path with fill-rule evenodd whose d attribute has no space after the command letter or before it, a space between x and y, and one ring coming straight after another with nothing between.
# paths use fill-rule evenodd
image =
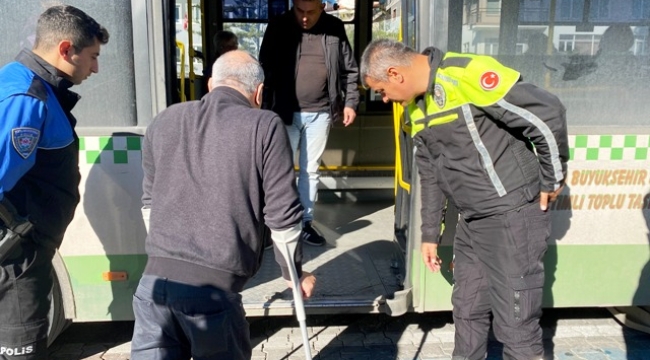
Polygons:
<instances>
[{"instance_id":1,"label":"white and green city bus with open door behind the men","mask_svg":"<svg viewBox=\"0 0 650 360\"><path fill-rule=\"evenodd\" d=\"M6 0L0 6L0 63L31 47L38 15L53 1ZM111 33L99 73L75 87L80 136L81 203L57 252L50 339L70 322L132 320L132 295L146 264L141 207L141 141L166 107L200 99L219 30L257 55L266 24L290 0L68 0ZM423 50L486 54L524 81L556 94L567 108L571 160L567 186L550 211L546 307L650 305L650 72L648 0L339 0L355 56L376 38ZM605 56L609 28L617 43ZM631 34L631 38L630 38ZM603 40L603 44L601 44ZM308 314L448 311L453 271L424 267L420 199L409 121L399 105L360 88L358 119L333 126L322 160L321 193L384 194L394 204L326 235L346 240L305 249L319 277ZM377 195L383 196L383 195ZM347 207L347 208L346 208ZM351 213L346 213L351 212ZM364 212L367 215L369 212ZM374 216L374 217L373 217ZM452 263L458 214L447 211L440 254ZM318 219L316 219L318 220ZM343 221L341 220L341 221ZM345 222L343 221L343 222ZM338 232L338 233L337 233ZM337 235L337 236L338 236ZM328 236L328 240L330 237ZM291 293L272 252L244 290L249 316L293 313Z\"/></svg>"}]
</instances>

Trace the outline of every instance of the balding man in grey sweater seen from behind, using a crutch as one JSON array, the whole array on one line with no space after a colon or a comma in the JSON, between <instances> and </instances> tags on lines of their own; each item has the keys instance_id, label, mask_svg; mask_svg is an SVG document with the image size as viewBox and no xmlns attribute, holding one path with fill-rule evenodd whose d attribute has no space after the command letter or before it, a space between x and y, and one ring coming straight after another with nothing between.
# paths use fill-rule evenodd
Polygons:
<instances>
[{"instance_id":1,"label":"balding man in grey sweater seen from behind, using a crutch","mask_svg":"<svg viewBox=\"0 0 650 360\"><path fill-rule=\"evenodd\" d=\"M287 134L276 114L258 109L262 68L234 50L213 74L206 96L161 112L144 138L149 258L133 299L134 360L250 359L239 293L260 267L265 229L273 240L300 236ZM308 297L315 278L301 273L300 255ZM276 260L288 280L277 247Z\"/></svg>"}]
</instances>

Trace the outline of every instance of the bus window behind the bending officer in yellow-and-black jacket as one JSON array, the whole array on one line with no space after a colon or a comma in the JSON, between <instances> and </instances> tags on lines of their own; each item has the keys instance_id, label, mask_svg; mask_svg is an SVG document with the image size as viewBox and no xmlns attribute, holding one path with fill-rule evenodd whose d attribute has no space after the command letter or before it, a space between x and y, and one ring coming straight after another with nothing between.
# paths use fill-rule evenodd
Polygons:
<instances>
[{"instance_id":1,"label":"bus window behind the bending officer in yellow-and-black jacket","mask_svg":"<svg viewBox=\"0 0 650 360\"><path fill-rule=\"evenodd\" d=\"M465 0L463 50L495 56L559 96L569 125L646 125L648 2L550 3Z\"/></svg>"}]
</instances>

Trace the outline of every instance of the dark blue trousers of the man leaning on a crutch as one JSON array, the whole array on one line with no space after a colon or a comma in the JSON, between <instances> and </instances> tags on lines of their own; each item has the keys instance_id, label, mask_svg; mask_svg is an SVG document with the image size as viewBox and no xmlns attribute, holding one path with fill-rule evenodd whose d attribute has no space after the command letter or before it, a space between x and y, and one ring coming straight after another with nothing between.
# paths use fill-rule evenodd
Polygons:
<instances>
[{"instance_id":1,"label":"dark blue trousers of the man leaning on a crutch","mask_svg":"<svg viewBox=\"0 0 650 360\"><path fill-rule=\"evenodd\" d=\"M131 360L251 358L240 294L144 275L133 311Z\"/></svg>"}]
</instances>

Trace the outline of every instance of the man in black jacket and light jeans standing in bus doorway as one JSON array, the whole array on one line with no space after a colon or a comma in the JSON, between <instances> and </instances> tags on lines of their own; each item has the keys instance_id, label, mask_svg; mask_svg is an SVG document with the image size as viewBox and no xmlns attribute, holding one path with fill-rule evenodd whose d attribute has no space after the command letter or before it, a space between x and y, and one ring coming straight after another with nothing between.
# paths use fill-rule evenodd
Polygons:
<instances>
[{"instance_id":1,"label":"man in black jacket and light jeans standing in bus doorway","mask_svg":"<svg viewBox=\"0 0 650 360\"><path fill-rule=\"evenodd\" d=\"M358 67L343 22L323 12L321 0L295 0L272 20L260 48L263 107L284 121L293 153L300 146L298 192L305 211L302 240L321 246L312 226L320 159L330 127L341 115L349 126L359 105Z\"/></svg>"}]
</instances>

